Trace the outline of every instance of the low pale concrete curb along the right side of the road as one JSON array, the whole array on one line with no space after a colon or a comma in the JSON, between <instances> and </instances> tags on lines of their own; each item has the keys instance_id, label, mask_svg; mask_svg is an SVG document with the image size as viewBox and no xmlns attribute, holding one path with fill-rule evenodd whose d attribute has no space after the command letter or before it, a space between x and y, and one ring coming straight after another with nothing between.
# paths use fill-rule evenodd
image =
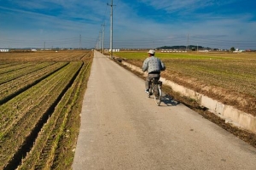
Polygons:
<instances>
[{"instance_id":1,"label":"low pale concrete curb along the right side of the road","mask_svg":"<svg viewBox=\"0 0 256 170\"><path fill-rule=\"evenodd\" d=\"M143 73L142 69L131 65L124 60L121 61L123 65L128 66L133 71L137 71ZM224 105L215 99L211 99L206 95L199 94L189 88L185 88L183 86L178 85L175 82L166 80L165 78L160 78L160 80L167 86L170 86L173 91L189 97L191 99L195 99L199 105L206 107L209 111L214 113L215 115L223 118L225 122L231 123L236 127L244 128L250 132L256 133L256 117L246 112L239 111L236 108L230 105Z\"/></svg>"}]
</instances>

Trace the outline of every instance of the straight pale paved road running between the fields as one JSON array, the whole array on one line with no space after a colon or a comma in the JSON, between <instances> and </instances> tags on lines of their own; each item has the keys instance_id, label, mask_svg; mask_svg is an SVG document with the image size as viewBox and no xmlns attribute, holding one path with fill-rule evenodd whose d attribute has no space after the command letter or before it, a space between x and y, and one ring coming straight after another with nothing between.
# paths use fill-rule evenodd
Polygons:
<instances>
[{"instance_id":1,"label":"straight pale paved road running between the fields","mask_svg":"<svg viewBox=\"0 0 256 170\"><path fill-rule=\"evenodd\" d=\"M256 169L256 149L95 52L73 169Z\"/></svg>"}]
</instances>

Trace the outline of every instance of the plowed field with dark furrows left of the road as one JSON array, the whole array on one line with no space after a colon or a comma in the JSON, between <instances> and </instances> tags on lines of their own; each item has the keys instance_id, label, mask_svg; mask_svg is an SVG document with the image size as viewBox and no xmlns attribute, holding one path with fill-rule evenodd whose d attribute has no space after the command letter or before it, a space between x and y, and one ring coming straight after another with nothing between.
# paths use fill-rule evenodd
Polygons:
<instances>
[{"instance_id":1,"label":"plowed field with dark furrows left of the road","mask_svg":"<svg viewBox=\"0 0 256 170\"><path fill-rule=\"evenodd\" d=\"M69 169L91 51L0 53L0 169Z\"/></svg>"}]
</instances>

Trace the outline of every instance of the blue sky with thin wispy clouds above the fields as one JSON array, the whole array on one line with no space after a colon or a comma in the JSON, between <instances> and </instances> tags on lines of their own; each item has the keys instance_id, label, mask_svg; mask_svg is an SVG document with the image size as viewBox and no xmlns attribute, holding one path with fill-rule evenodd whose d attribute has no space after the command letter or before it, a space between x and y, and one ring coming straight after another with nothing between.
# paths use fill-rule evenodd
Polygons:
<instances>
[{"instance_id":1,"label":"blue sky with thin wispy clouds above the fields","mask_svg":"<svg viewBox=\"0 0 256 170\"><path fill-rule=\"evenodd\" d=\"M95 48L101 31L104 47L109 48L110 3L0 0L0 48ZM255 0L113 0L113 4L113 48L256 49Z\"/></svg>"}]
</instances>

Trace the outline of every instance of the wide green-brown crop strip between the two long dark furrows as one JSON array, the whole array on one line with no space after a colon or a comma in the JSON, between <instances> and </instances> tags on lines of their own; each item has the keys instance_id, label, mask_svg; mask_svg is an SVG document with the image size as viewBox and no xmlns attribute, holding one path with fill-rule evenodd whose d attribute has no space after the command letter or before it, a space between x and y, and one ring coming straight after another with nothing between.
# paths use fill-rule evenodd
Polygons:
<instances>
[{"instance_id":1,"label":"wide green-brown crop strip between the two long dark furrows","mask_svg":"<svg viewBox=\"0 0 256 170\"><path fill-rule=\"evenodd\" d=\"M37 85L0 106L1 132L0 167L7 166L15 153L26 144L44 119L45 114L67 87L82 62L73 62L45 78ZM7 148L12 148L8 150Z\"/></svg>"}]
</instances>

